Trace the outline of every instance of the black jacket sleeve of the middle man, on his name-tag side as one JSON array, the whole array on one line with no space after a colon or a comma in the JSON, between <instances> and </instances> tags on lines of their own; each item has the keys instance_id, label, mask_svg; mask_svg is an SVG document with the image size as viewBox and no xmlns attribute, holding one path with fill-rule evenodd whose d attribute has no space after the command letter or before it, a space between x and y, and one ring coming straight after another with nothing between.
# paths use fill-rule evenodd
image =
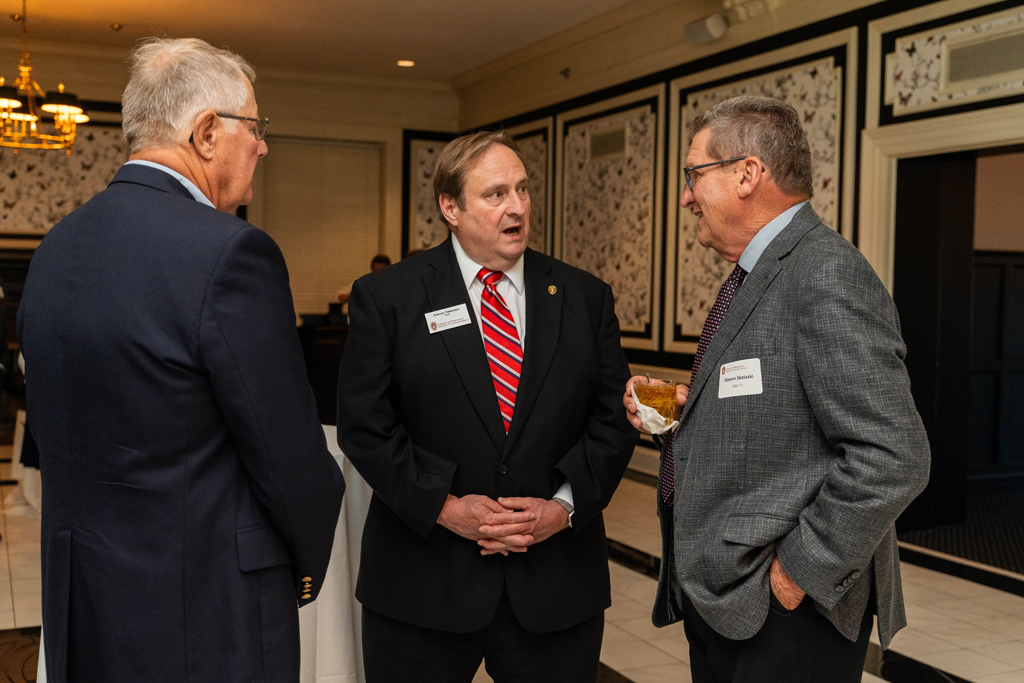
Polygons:
<instances>
[{"instance_id":1,"label":"black jacket sleeve of the middle man, on his name-tag side","mask_svg":"<svg viewBox=\"0 0 1024 683\"><path fill-rule=\"evenodd\" d=\"M338 377L338 444L374 494L426 539L458 465L417 446L399 423L391 403L393 339L362 280L352 286L348 315Z\"/></svg>"}]
</instances>

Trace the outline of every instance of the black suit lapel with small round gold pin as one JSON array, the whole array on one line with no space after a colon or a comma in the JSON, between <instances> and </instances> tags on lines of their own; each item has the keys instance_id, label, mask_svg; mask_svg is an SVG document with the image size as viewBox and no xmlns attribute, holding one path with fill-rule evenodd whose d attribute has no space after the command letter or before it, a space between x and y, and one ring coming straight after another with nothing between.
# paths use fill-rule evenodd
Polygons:
<instances>
[{"instance_id":1,"label":"black suit lapel with small round gold pin","mask_svg":"<svg viewBox=\"0 0 1024 683\"><path fill-rule=\"evenodd\" d=\"M526 250L523 266L526 348L523 349L522 376L516 391L515 412L512 414L512 425L509 427L502 458L511 453L537 404L537 397L558 347L558 331L561 329L562 297L565 292L562 282L551 272L550 266L539 264L529 249ZM552 287L554 294L551 293Z\"/></svg>"}]
</instances>

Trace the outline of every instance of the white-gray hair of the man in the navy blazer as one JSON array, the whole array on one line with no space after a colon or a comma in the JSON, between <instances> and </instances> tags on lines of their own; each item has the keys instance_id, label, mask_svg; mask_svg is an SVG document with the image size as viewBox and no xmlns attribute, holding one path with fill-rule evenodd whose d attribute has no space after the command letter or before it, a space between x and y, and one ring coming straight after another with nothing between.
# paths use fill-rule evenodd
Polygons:
<instances>
[{"instance_id":1,"label":"white-gray hair of the man in the navy blazer","mask_svg":"<svg viewBox=\"0 0 1024 683\"><path fill-rule=\"evenodd\" d=\"M248 61L199 38L146 38L128 61L121 114L131 153L178 141L206 110L238 112L249 97L243 78L256 81Z\"/></svg>"}]
</instances>

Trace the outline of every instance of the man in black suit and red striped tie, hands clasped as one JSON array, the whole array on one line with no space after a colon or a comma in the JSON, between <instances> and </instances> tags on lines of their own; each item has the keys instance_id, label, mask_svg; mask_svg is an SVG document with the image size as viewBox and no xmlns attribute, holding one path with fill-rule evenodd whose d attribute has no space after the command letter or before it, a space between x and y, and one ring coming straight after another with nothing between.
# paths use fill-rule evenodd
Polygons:
<instances>
[{"instance_id":1,"label":"man in black suit and red striped tie, hands clasped","mask_svg":"<svg viewBox=\"0 0 1024 683\"><path fill-rule=\"evenodd\" d=\"M339 440L374 489L356 597L369 683L597 676L601 510L636 443L611 289L526 248L504 133L434 174L441 246L357 280Z\"/></svg>"}]
</instances>

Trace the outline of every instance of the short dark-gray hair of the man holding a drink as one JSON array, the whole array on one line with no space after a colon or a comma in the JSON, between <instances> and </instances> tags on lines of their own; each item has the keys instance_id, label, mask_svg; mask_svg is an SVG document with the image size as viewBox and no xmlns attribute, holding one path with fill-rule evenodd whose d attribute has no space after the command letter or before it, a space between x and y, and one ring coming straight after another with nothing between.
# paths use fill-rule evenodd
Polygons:
<instances>
[{"instance_id":1,"label":"short dark-gray hair of the man holding a drink","mask_svg":"<svg viewBox=\"0 0 1024 683\"><path fill-rule=\"evenodd\" d=\"M715 159L757 157L785 194L814 194L807 133L785 102L753 95L726 99L690 123L693 135L705 128L711 130L707 152Z\"/></svg>"}]
</instances>

